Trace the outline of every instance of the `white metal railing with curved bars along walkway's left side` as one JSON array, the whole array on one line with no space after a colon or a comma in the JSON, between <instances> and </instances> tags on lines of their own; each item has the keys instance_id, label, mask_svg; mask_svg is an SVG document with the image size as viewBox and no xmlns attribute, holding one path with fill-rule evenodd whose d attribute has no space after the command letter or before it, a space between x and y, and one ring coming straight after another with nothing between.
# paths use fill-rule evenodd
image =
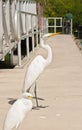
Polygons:
<instances>
[{"instance_id":1,"label":"white metal railing with curved bars along walkway's left side","mask_svg":"<svg viewBox=\"0 0 82 130\"><path fill-rule=\"evenodd\" d=\"M26 39L27 57L29 57L29 37L32 37L32 51L34 51L35 34L36 46L38 45L39 28L36 2L34 4L34 1L13 0L10 3L10 0L7 0L7 2L3 3L1 0L0 7L3 28L2 34L0 33L2 35L0 35L0 42L2 41L0 43L0 60L5 60L5 55L18 46L18 65L21 66L21 40ZM6 17L6 13L8 14L8 18Z\"/></svg>"}]
</instances>

